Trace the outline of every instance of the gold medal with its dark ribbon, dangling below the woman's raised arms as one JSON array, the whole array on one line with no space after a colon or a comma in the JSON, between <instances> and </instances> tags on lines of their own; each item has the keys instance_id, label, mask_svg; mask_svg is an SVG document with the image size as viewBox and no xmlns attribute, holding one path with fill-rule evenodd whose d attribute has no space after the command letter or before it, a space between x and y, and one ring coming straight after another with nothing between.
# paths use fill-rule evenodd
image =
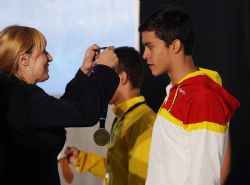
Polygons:
<instances>
[{"instance_id":1,"label":"gold medal with its dark ribbon, dangling below the woman's raised arms","mask_svg":"<svg viewBox=\"0 0 250 185\"><path fill-rule=\"evenodd\" d=\"M109 143L110 134L105 129L105 121L107 117L108 106L104 109L100 116L100 128L94 133L94 141L99 146L104 146Z\"/></svg>"}]
</instances>

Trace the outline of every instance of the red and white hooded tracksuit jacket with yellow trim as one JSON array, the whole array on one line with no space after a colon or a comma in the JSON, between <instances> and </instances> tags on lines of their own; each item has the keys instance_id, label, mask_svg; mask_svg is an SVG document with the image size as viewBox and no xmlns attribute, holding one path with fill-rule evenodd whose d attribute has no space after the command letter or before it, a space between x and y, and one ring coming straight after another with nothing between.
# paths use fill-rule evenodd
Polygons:
<instances>
[{"instance_id":1,"label":"red and white hooded tracksuit jacket with yellow trim","mask_svg":"<svg viewBox=\"0 0 250 185\"><path fill-rule=\"evenodd\" d=\"M146 185L220 185L228 128L239 102L217 72L168 85L153 127Z\"/></svg>"}]
</instances>

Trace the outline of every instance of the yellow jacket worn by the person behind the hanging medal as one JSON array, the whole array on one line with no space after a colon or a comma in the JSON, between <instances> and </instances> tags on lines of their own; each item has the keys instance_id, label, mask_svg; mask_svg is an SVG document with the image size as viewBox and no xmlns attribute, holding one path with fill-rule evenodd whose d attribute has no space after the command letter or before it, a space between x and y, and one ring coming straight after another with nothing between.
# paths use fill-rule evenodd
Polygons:
<instances>
[{"instance_id":1,"label":"yellow jacket worn by the person behind the hanging medal","mask_svg":"<svg viewBox=\"0 0 250 185\"><path fill-rule=\"evenodd\" d=\"M107 185L145 184L156 114L143 102L144 97L138 96L113 108L117 119L111 131L107 158L81 151L74 163L77 171L89 171L105 179ZM127 112L131 107L134 109Z\"/></svg>"}]
</instances>

